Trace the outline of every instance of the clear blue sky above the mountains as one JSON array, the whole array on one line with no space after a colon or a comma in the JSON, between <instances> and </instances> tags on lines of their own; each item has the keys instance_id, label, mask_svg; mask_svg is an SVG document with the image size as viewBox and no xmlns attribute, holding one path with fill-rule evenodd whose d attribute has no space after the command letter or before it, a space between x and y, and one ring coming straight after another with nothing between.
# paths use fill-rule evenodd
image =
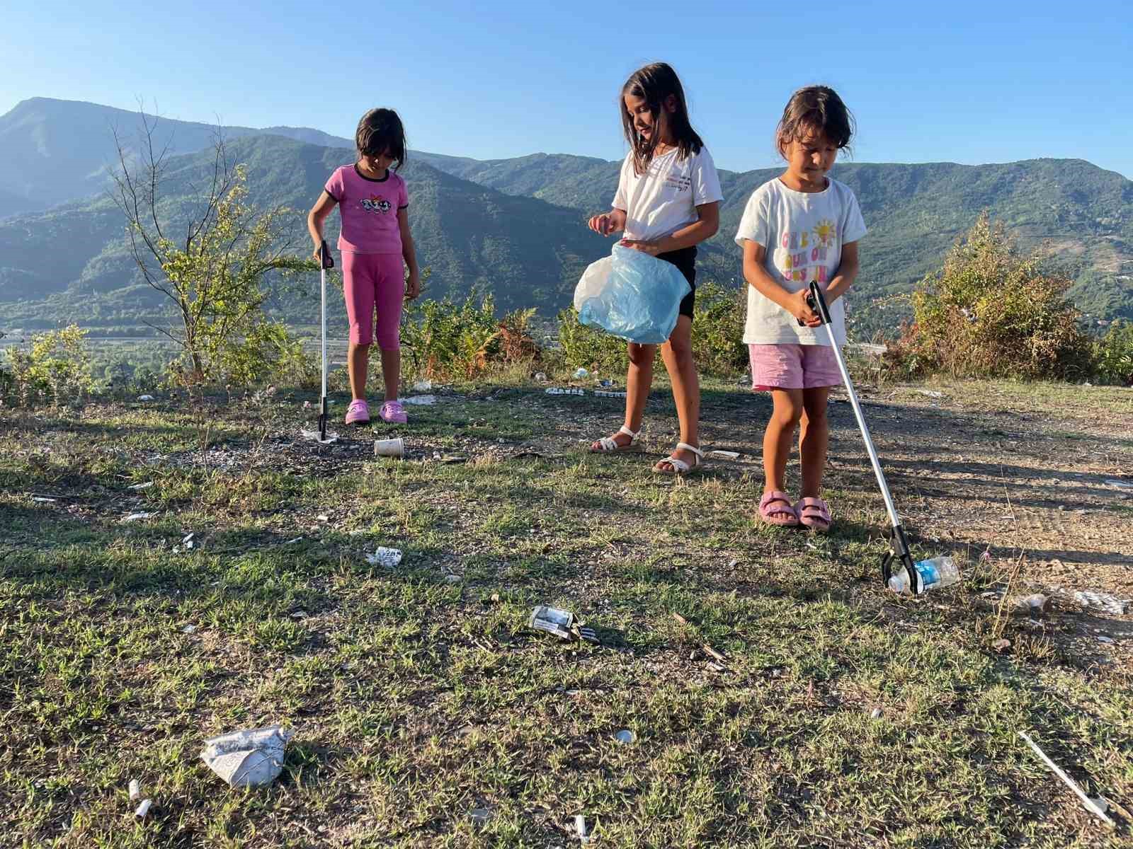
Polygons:
<instances>
[{"instance_id":1,"label":"clear blue sky above the mountains","mask_svg":"<svg viewBox=\"0 0 1133 849\"><path fill-rule=\"evenodd\" d=\"M617 158L619 87L663 59L723 168L775 164L787 96L823 82L857 114L859 162L1080 157L1133 178L1133 14L1119 2L6 6L0 112L37 95L125 109L140 96L169 118L349 137L389 105L418 149Z\"/></svg>"}]
</instances>

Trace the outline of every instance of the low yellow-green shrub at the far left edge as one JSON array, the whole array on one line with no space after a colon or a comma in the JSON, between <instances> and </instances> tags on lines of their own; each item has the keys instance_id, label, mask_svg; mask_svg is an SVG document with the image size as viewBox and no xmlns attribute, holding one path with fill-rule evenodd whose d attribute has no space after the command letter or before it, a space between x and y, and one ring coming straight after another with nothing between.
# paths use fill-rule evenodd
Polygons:
<instances>
[{"instance_id":1,"label":"low yellow-green shrub at the far left edge","mask_svg":"<svg viewBox=\"0 0 1133 849\"><path fill-rule=\"evenodd\" d=\"M86 331L70 325L32 336L26 350L7 349L8 368L0 371L0 403L36 406L78 402L94 387Z\"/></svg>"}]
</instances>

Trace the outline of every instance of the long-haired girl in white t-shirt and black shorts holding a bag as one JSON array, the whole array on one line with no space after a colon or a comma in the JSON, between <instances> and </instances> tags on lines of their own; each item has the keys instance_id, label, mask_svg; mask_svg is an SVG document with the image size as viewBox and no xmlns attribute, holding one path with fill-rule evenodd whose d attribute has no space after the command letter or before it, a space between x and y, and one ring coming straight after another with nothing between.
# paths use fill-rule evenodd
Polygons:
<instances>
[{"instance_id":1,"label":"long-haired girl in white t-shirt and black shorts holding a bag","mask_svg":"<svg viewBox=\"0 0 1133 849\"><path fill-rule=\"evenodd\" d=\"M661 346L673 384L681 439L673 453L654 466L664 474L683 474L704 456L698 436L700 386L691 344L696 246L719 226L724 196L712 156L689 123L684 89L671 67L657 62L636 71L622 86L620 106L630 152L622 163L613 209L595 215L589 225L603 235L624 231L623 246L672 263L693 289L681 301L676 327ZM594 443L590 451L637 447L656 352L656 345L629 343L625 422L613 436Z\"/></svg>"}]
</instances>

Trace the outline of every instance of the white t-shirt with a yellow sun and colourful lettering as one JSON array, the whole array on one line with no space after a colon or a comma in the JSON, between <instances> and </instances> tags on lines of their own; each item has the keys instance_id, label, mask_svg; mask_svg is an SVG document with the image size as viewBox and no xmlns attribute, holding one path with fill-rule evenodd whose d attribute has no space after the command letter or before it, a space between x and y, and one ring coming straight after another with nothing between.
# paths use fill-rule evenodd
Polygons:
<instances>
[{"instance_id":1,"label":"white t-shirt with a yellow sun and colourful lettering","mask_svg":"<svg viewBox=\"0 0 1133 849\"><path fill-rule=\"evenodd\" d=\"M750 240L767 250L764 267L781 286L798 292L810 281L829 285L842 263L842 246L866 234L858 198L847 186L827 178L823 191L795 191L778 178L751 192L743 207L735 243ZM830 328L838 345L846 341L845 297L830 305ZM798 319L748 285L747 344L827 345L823 327L800 327Z\"/></svg>"}]
</instances>

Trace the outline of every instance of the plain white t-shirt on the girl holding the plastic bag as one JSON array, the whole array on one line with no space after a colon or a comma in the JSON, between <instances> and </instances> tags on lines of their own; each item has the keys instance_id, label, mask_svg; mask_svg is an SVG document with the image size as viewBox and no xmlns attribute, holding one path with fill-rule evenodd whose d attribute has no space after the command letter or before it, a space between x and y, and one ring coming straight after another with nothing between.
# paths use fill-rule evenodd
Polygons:
<instances>
[{"instance_id":1,"label":"plain white t-shirt on the girl holding the plastic bag","mask_svg":"<svg viewBox=\"0 0 1133 849\"><path fill-rule=\"evenodd\" d=\"M633 152L622 163L614 208L625 211L625 238L651 241L697 221L697 207L724 199L707 147L680 158L673 148L633 173Z\"/></svg>"}]
</instances>

